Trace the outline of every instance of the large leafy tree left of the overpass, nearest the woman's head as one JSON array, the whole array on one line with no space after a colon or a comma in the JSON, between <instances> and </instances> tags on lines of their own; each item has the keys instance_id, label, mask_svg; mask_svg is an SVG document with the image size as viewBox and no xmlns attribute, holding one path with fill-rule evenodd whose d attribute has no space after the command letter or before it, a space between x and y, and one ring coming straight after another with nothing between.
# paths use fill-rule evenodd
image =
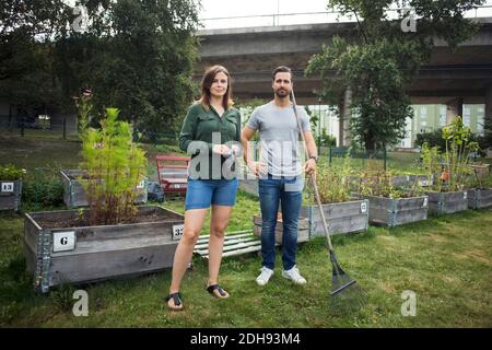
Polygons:
<instances>
[{"instance_id":1,"label":"large leafy tree left of the overpass, nearest the woman's head","mask_svg":"<svg viewBox=\"0 0 492 350\"><path fill-rule=\"evenodd\" d=\"M177 131L194 94L196 2L86 2L93 20L87 32L57 45L66 101L91 86L95 110L116 106L141 131Z\"/></svg>"}]
</instances>

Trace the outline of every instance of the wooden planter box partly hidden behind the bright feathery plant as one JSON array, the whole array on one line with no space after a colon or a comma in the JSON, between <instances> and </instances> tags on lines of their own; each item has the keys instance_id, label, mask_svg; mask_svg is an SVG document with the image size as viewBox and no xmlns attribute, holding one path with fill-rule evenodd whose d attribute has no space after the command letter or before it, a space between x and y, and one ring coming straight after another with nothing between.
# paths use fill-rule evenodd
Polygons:
<instances>
[{"instance_id":1,"label":"wooden planter box partly hidden behind the bright feathery plant","mask_svg":"<svg viewBox=\"0 0 492 350\"><path fill-rule=\"evenodd\" d=\"M83 176L84 172L81 170L66 170L60 171L61 182L63 183L63 202L68 209L87 207L87 196L82 186L84 179L80 179L79 176ZM138 195L136 197L136 205L147 203L148 196L148 180L144 179L139 186L137 186Z\"/></svg>"}]
</instances>

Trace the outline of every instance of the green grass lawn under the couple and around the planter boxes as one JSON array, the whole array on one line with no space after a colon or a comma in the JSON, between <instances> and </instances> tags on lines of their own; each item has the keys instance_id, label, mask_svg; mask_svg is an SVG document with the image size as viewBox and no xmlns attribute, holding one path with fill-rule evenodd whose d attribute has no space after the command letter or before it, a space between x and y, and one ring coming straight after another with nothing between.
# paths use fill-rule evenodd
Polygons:
<instances>
[{"instance_id":1,"label":"green grass lawn under the couple and around the planter boxes","mask_svg":"<svg viewBox=\"0 0 492 350\"><path fill-rule=\"evenodd\" d=\"M79 147L1 136L0 163L28 170L77 166ZM179 200L164 207L184 211ZM239 192L227 231L251 229L258 211L257 200ZM207 265L195 257L181 287L186 311L173 313L162 302L169 269L35 294L25 271L23 230L21 214L0 213L0 327L492 327L492 209L333 237L340 265L368 294L362 310L345 315L333 314L330 306L331 266L324 238L298 248L297 265L308 281L304 287L281 277L280 254L276 275L263 288L255 282L258 255L224 258L221 283L231 293L227 300L206 292ZM89 293L87 317L71 312L75 289ZM413 317L401 315L403 291L417 295Z\"/></svg>"}]
</instances>

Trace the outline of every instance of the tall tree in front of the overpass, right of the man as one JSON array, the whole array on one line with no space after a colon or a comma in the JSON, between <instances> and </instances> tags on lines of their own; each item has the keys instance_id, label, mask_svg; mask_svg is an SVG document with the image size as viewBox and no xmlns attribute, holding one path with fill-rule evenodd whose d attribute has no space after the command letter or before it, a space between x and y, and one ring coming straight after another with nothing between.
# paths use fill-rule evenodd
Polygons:
<instances>
[{"instance_id":1,"label":"tall tree in front of the overpass, right of the man","mask_svg":"<svg viewBox=\"0 0 492 350\"><path fill-rule=\"evenodd\" d=\"M313 56L308 74L320 74L320 95L338 104L347 89L352 92L355 141L367 150L395 144L405 136L406 119L413 116L406 86L430 59L434 39L452 49L477 30L464 13L484 0L330 0L328 8L358 21L353 40L333 37ZM412 9L415 31L403 31Z\"/></svg>"}]
</instances>

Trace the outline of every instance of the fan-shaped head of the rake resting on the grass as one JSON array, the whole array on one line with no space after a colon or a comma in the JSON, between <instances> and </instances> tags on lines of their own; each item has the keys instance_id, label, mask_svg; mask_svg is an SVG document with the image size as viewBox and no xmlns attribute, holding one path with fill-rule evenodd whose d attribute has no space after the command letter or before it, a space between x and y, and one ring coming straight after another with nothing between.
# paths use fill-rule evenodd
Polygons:
<instances>
[{"instance_id":1,"label":"fan-shaped head of the rake resting on the grass","mask_svg":"<svg viewBox=\"0 0 492 350\"><path fill-rule=\"evenodd\" d=\"M367 302L365 291L338 265L335 253L330 254L333 268L331 278L331 304L336 313L347 313L361 308Z\"/></svg>"}]
</instances>

